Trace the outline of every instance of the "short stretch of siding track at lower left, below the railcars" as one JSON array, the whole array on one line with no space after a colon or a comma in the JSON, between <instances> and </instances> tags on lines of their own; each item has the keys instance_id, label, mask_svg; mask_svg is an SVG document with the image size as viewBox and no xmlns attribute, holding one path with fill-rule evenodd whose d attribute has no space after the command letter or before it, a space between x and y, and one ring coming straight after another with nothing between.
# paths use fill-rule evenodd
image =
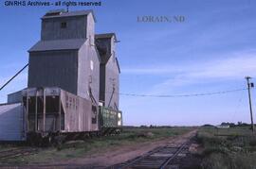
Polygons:
<instances>
[{"instance_id":1,"label":"short stretch of siding track at lower left, below the railcars","mask_svg":"<svg viewBox=\"0 0 256 169\"><path fill-rule=\"evenodd\" d=\"M0 151L0 160L13 159L20 156L28 156L37 152L37 148L13 148Z\"/></svg>"}]
</instances>

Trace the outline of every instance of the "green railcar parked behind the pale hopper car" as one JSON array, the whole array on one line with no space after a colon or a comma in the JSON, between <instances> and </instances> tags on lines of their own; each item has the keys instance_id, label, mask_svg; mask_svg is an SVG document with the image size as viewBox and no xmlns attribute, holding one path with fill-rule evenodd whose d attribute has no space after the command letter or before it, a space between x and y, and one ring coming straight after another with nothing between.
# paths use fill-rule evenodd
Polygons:
<instances>
[{"instance_id":1,"label":"green railcar parked behind the pale hopper car","mask_svg":"<svg viewBox=\"0 0 256 169\"><path fill-rule=\"evenodd\" d=\"M101 127L122 127L122 112L100 106Z\"/></svg>"}]
</instances>

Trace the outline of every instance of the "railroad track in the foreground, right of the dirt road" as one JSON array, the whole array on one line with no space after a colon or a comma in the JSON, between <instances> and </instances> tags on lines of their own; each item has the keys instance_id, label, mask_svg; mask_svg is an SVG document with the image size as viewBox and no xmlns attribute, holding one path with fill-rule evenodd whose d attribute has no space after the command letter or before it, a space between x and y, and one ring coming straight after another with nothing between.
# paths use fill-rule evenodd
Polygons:
<instances>
[{"instance_id":1,"label":"railroad track in the foreground, right of the dirt road","mask_svg":"<svg viewBox=\"0 0 256 169\"><path fill-rule=\"evenodd\" d=\"M187 142L177 146L160 146L134 160L116 164L108 169L176 169L180 159L189 153L191 144L190 138Z\"/></svg>"}]
</instances>

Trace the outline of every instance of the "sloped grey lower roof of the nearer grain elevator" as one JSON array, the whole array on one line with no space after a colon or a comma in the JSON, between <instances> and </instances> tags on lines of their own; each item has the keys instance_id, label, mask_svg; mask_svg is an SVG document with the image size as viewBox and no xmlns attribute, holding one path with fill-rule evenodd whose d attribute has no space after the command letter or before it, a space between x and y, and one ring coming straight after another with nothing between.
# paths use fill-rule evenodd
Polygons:
<instances>
[{"instance_id":1,"label":"sloped grey lower roof of the nearer grain elevator","mask_svg":"<svg viewBox=\"0 0 256 169\"><path fill-rule=\"evenodd\" d=\"M40 41L33 45L28 52L80 49L84 42L86 39Z\"/></svg>"}]
</instances>

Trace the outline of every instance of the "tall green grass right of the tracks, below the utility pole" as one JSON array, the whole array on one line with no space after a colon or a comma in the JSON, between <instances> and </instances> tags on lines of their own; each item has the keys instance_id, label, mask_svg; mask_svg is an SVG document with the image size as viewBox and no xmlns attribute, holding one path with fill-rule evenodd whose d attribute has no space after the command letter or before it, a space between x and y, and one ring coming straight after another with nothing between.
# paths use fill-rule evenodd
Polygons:
<instances>
[{"instance_id":1,"label":"tall green grass right of the tracks, below the utility pole","mask_svg":"<svg viewBox=\"0 0 256 169\"><path fill-rule=\"evenodd\" d=\"M203 145L202 168L256 168L256 135L248 127L203 127L197 139Z\"/></svg>"}]
</instances>

